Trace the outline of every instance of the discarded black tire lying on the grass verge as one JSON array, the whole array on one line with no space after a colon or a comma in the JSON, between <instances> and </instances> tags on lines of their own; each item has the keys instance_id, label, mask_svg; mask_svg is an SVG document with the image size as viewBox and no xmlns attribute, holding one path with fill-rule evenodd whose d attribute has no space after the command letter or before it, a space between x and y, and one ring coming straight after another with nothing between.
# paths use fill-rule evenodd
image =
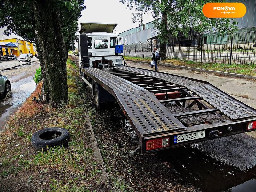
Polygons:
<instances>
[{"instance_id":1,"label":"discarded black tire lying on the grass verge","mask_svg":"<svg viewBox=\"0 0 256 192\"><path fill-rule=\"evenodd\" d=\"M54 146L67 146L69 132L61 127L49 127L35 132L31 137L31 145L38 151Z\"/></svg>"}]
</instances>

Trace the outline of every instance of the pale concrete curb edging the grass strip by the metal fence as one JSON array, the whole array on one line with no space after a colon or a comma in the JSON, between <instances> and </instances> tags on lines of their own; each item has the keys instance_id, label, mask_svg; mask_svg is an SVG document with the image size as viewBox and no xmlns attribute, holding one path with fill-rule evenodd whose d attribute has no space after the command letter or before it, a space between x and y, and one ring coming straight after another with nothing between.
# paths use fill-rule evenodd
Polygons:
<instances>
[{"instance_id":1,"label":"pale concrete curb edging the grass strip by the metal fence","mask_svg":"<svg viewBox=\"0 0 256 192\"><path fill-rule=\"evenodd\" d=\"M193 68L193 67L185 67L185 66L172 65L170 63L162 63L162 62L160 62L160 64L169 66L169 67L173 67L173 68L180 68L180 69L186 69L186 70L192 70L192 71L201 71L201 72L205 72L205 73L216 73L216 74L220 74L220 75L256 80L256 76L242 75L242 74L237 74L237 73L228 73L228 72L222 72L222 71L212 71L212 70Z\"/></svg>"}]
</instances>

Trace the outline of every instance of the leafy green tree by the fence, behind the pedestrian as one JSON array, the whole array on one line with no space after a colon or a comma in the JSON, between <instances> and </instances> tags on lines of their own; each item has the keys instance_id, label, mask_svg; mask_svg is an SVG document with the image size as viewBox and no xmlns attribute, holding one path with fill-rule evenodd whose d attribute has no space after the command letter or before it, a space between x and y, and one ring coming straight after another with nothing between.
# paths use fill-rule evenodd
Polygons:
<instances>
[{"instance_id":1,"label":"leafy green tree by the fence, behind the pedestrian","mask_svg":"<svg viewBox=\"0 0 256 192\"><path fill-rule=\"evenodd\" d=\"M209 2L224 2L225 0L119 0L129 8L135 7L133 21L140 21L149 12L154 20L154 28L160 39L160 55L166 59L166 43L171 36L178 37L178 32L185 36L192 29L198 33L212 31L220 34L232 33L236 22L228 18L207 18L202 12L204 4ZM160 20L161 19L161 20ZM143 22L143 21L140 21Z\"/></svg>"}]
</instances>

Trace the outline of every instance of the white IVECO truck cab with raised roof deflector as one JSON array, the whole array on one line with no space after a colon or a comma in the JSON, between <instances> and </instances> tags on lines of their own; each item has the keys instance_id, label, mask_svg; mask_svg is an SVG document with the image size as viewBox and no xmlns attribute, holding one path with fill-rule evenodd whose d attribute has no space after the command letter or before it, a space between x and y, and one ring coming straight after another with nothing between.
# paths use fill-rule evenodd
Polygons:
<instances>
[{"instance_id":1,"label":"white IVECO truck cab with raised roof deflector","mask_svg":"<svg viewBox=\"0 0 256 192\"><path fill-rule=\"evenodd\" d=\"M81 22L78 41L80 68L122 65L121 53L116 53L116 45L120 45L119 35L113 33L116 26L116 23Z\"/></svg>"}]
</instances>

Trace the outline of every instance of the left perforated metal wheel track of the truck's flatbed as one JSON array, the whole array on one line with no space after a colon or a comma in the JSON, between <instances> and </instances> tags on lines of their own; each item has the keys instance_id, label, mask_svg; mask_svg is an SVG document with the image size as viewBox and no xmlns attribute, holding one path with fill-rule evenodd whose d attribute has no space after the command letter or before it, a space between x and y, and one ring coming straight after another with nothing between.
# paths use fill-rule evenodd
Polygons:
<instances>
[{"instance_id":1,"label":"left perforated metal wheel track of the truck's flatbed","mask_svg":"<svg viewBox=\"0 0 256 192\"><path fill-rule=\"evenodd\" d=\"M99 69L83 70L116 98L140 134L159 134L185 129L184 125L146 89Z\"/></svg>"}]
</instances>

